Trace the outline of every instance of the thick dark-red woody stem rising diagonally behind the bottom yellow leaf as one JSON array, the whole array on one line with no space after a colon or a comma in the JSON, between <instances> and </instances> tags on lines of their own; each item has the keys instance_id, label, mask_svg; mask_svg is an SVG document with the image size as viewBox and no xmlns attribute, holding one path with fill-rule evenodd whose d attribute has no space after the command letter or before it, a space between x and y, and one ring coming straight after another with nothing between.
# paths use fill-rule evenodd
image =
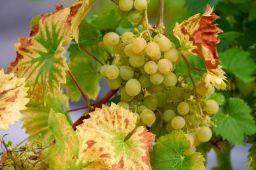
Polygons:
<instances>
[{"instance_id":1,"label":"thick dark-red woody stem rising diagonally behind the bottom yellow leaf","mask_svg":"<svg viewBox=\"0 0 256 170\"><path fill-rule=\"evenodd\" d=\"M102 99L100 99L95 105L93 105L93 107L90 108L89 112L94 111L95 108L101 108L103 104L105 104L110 98L112 98L112 96L118 91L117 90L110 90ZM90 117L90 115L83 115L82 117L80 117L79 119L77 119L77 121L75 121L75 123L73 123L72 127L74 130L77 129L77 126L82 124L84 119L88 119Z\"/></svg>"}]
</instances>

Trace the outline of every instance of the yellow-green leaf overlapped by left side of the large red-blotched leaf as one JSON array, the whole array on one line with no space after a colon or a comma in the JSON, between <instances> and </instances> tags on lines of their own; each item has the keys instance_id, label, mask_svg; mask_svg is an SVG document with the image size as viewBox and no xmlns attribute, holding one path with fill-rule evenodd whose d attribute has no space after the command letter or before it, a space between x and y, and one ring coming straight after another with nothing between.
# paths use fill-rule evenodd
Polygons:
<instances>
[{"instance_id":1,"label":"yellow-green leaf overlapped by left side of the large red-blotched leaf","mask_svg":"<svg viewBox=\"0 0 256 170\"><path fill-rule=\"evenodd\" d=\"M49 131L55 138L55 144L46 153L49 169L71 169L79 155L79 140L75 131L63 113L49 113Z\"/></svg>"}]
</instances>

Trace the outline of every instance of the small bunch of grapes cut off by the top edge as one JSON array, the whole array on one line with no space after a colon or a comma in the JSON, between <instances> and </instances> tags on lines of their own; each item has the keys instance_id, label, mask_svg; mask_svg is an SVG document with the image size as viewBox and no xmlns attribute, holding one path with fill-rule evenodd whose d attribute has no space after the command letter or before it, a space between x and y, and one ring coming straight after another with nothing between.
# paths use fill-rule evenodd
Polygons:
<instances>
[{"instance_id":1,"label":"small bunch of grapes cut off by the top edge","mask_svg":"<svg viewBox=\"0 0 256 170\"><path fill-rule=\"evenodd\" d=\"M118 12L121 16L128 16L132 22L141 22L143 18L142 11L146 9L148 2L146 0L119 0Z\"/></svg>"}]
</instances>

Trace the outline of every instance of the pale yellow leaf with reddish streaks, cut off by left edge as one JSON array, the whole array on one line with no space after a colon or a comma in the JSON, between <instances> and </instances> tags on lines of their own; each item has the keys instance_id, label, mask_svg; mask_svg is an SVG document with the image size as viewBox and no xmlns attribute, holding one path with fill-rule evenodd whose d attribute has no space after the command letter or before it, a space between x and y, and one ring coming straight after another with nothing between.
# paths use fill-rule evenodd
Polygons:
<instances>
[{"instance_id":1,"label":"pale yellow leaf with reddish streaks, cut off by left edge","mask_svg":"<svg viewBox=\"0 0 256 170\"><path fill-rule=\"evenodd\" d=\"M0 128L8 130L9 125L21 118L21 110L29 99L26 98L28 88L25 88L24 78L17 78L13 73L0 71Z\"/></svg>"}]
</instances>

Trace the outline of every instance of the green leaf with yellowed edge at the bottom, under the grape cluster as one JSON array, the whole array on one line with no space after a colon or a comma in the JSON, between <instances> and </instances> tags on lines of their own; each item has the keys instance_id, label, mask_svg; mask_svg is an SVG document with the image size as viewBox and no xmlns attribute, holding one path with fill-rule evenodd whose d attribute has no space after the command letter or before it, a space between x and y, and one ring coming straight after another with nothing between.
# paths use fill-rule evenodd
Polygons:
<instances>
[{"instance_id":1,"label":"green leaf with yellowed edge at the bottom, under the grape cluster","mask_svg":"<svg viewBox=\"0 0 256 170\"><path fill-rule=\"evenodd\" d=\"M174 130L166 136L156 140L151 152L151 165L153 169L205 169L204 157L199 152L185 156L185 150L190 142L181 130Z\"/></svg>"}]
</instances>

